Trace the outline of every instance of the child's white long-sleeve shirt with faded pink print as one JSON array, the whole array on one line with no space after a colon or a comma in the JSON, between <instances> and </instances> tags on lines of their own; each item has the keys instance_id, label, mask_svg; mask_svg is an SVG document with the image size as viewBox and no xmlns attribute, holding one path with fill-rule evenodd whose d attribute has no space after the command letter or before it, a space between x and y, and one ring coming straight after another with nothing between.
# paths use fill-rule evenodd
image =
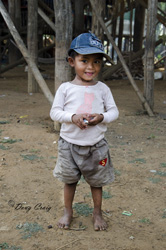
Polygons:
<instances>
[{"instance_id":1,"label":"child's white long-sleeve shirt with faded pink print","mask_svg":"<svg viewBox=\"0 0 166 250\"><path fill-rule=\"evenodd\" d=\"M72 123L72 115L80 113L103 114L104 119L95 126L81 130ZM53 121L62 123L60 136L76 145L92 146L104 138L106 123L118 118L119 112L106 84L82 86L65 82L58 88L50 111Z\"/></svg>"}]
</instances>

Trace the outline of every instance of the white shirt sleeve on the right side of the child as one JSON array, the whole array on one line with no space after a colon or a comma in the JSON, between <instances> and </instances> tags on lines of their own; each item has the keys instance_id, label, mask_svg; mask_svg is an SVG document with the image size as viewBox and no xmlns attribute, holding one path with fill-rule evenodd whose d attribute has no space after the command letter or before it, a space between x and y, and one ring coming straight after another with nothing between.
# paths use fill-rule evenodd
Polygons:
<instances>
[{"instance_id":1,"label":"white shirt sleeve on the right side of the child","mask_svg":"<svg viewBox=\"0 0 166 250\"><path fill-rule=\"evenodd\" d=\"M118 118L119 111L110 89L106 87L106 90L104 92L105 112L102 113L102 115L104 116L102 123L110 123Z\"/></svg>"}]
</instances>

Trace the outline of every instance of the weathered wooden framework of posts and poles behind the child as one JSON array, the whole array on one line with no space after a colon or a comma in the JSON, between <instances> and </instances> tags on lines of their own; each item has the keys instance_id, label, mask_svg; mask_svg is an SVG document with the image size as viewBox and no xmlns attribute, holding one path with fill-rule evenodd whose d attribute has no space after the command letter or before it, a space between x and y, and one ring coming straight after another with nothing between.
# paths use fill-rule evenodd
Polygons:
<instances>
[{"instance_id":1,"label":"weathered wooden framework of posts and poles behind the child","mask_svg":"<svg viewBox=\"0 0 166 250\"><path fill-rule=\"evenodd\" d=\"M27 6L25 9L21 7L22 0L8 0L8 12L3 5L4 0L0 0L0 12L5 22L0 22L2 25L0 29L0 61L4 55L4 50L7 46L15 46L14 50L9 49L10 65L0 67L0 72L3 73L12 67L15 67L24 60L27 61L30 68L28 77L28 91L35 92L37 90L36 81L42 88L44 94L50 103L52 103L52 94L48 90L44 79L37 68L38 55L41 51L46 51L48 47L42 48L41 41L43 39L43 30L45 27L49 27L49 33L55 36L56 50L55 50L55 90L62 81L70 78L70 70L67 64L65 64L65 56L67 48L73 37L82 32L87 32L91 29L97 36L104 41L106 50L111 54L114 59L115 55L118 55L117 63L111 66L105 66L102 77L109 79L117 70L123 68L124 72L128 76L130 83L132 84L136 94L142 102L144 108L150 116L153 116L153 92L154 92L154 47L155 37L152 36L150 31L153 30L155 34L156 29L156 18L158 22L166 25L166 14L161 8L158 8L156 13L154 10L157 9L158 2L165 2L160 0L128 0L128 1L115 1L115 0L80 0L79 5L77 0L38 0L28 1L28 9L31 9L27 14ZM53 9L54 5L54 9ZM17 11L16 10L17 6ZM22 11L20 11L22 10ZM147 36L145 49L143 48L144 42L144 27L145 27L145 13L148 10L148 23L147 23ZM38 13L38 16L37 16ZM72 16L74 18L72 21ZM125 15L129 15L127 21L129 21L128 33L125 33ZM23 19L23 14L26 18ZM54 15L55 14L55 15ZM33 16L32 16L33 15ZM20 18L21 16L21 18ZM25 17L24 16L24 17ZM11 17L11 18L10 18ZM1 21L2 17L0 17ZM14 22L12 22L12 20ZM74 25L72 25L72 22ZM40 24L40 25L39 25ZM7 28L6 28L7 25ZM37 29L37 26L40 29ZM28 36L26 37L26 30L28 27ZM72 28L73 27L73 31ZM139 27L139 28L138 28ZM10 30L10 33L8 32ZM36 32L35 32L36 31ZM38 32L37 32L38 31ZM20 35L22 35L23 40ZM31 34L31 35L30 35ZM32 34L33 37L32 37ZM37 36L35 37L35 34ZM14 41L13 41L13 38ZM148 39L149 37L149 39ZM12 38L12 44L11 39ZM38 38L38 46L37 44ZM118 41L116 42L116 40ZM3 44L3 41L7 41ZM26 42L27 41L27 42ZM125 41L125 42L124 42ZM14 42L14 43L13 43ZM26 45L28 44L28 50ZM160 44L161 40L156 42ZM13 45L14 44L14 45ZM110 45L112 48L110 49ZM2 47L3 45L3 47ZM41 46L39 46L41 45ZM5 47L6 46L6 47ZM9 48L10 48L9 46ZM54 44L51 45L54 47ZM23 54L24 58L20 58L20 55L14 55L18 49ZM125 51L127 50L127 51ZM14 51L14 52L13 52ZM39 51L39 53L38 53ZM13 53L13 54L12 54ZM124 58L124 54L128 54ZM136 82L132 76L133 60L137 58L142 63L142 56L144 55L144 93L142 94L138 89ZM62 60L63 59L63 60ZM140 65L141 65L140 63ZM65 65L65 66L64 66ZM141 66L143 68L143 64ZM64 74L65 72L65 74ZM148 73L149 72L149 73ZM33 74L33 77L32 77ZM37 76L38 75L38 76ZM34 78L36 79L34 81Z\"/></svg>"}]
</instances>

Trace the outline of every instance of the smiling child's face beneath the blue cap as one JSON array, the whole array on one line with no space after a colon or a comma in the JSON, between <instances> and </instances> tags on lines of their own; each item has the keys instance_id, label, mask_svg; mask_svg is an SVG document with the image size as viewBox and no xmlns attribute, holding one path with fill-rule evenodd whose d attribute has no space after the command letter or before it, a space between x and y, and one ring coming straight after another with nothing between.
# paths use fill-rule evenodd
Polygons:
<instances>
[{"instance_id":1,"label":"smiling child's face beneath the blue cap","mask_svg":"<svg viewBox=\"0 0 166 250\"><path fill-rule=\"evenodd\" d=\"M78 54L75 59L70 58L69 63L75 68L77 77L85 82L92 81L99 73L102 65L102 55L90 54L80 55Z\"/></svg>"}]
</instances>

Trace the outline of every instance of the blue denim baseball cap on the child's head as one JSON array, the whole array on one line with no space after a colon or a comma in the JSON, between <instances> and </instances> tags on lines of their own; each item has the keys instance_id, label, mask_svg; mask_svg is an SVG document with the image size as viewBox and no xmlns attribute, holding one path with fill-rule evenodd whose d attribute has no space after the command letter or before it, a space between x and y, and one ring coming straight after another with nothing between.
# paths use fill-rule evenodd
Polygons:
<instances>
[{"instance_id":1,"label":"blue denim baseball cap on the child's head","mask_svg":"<svg viewBox=\"0 0 166 250\"><path fill-rule=\"evenodd\" d=\"M109 55L104 52L104 46L102 42L93 33L82 33L77 36L71 43L70 49L68 50L68 55L74 50L81 55L89 54L103 54L103 56L108 60L112 61Z\"/></svg>"}]
</instances>

